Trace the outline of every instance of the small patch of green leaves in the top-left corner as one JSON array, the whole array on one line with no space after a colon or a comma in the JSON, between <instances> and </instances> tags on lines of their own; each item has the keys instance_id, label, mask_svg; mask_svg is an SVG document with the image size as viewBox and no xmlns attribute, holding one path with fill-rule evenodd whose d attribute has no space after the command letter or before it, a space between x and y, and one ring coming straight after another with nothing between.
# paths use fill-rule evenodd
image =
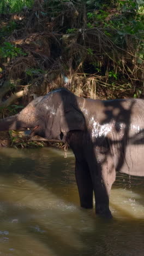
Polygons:
<instances>
[{"instance_id":1,"label":"small patch of green leaves in the top-left corner","mask_svg":"<svg viewBox=\"0 0 144 256\"><path fill-rule=\"evenodd\" d=\"M2 0L0 2L0 13L19 13L23 7L31 8L34 0Z\"/></svg>"}]
</instances>

